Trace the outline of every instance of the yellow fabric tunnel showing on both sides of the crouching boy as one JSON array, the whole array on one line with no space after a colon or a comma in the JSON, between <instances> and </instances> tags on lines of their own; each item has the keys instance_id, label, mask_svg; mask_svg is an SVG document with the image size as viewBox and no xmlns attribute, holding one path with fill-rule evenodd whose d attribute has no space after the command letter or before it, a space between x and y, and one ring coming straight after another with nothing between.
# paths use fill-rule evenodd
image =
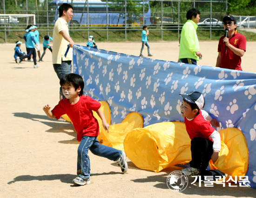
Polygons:
<instances>
[{"instance_id":1,"label":"yellow fabric tunnel showing on both sides of the crouching boy","mask_svg":"<svg viewBox=\"0 0 256 198\"><path fill-rule=\"evenodd\" d=\"M245 175L249 157L243 133L236 128L227 128L220 134L222 148L216 168L231 176ZM125 152L135 166L155 172L188 163L191 160L190 146L185 123L176 121L136 128L124 140Z\"/></svg>"}]
</instances>

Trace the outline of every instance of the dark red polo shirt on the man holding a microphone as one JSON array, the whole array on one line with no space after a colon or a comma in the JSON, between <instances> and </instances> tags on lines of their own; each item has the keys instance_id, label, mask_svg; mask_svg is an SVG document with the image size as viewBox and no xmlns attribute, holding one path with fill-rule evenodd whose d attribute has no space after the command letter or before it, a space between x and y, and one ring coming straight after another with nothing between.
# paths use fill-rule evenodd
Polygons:
<instances>
[{"instance_id":1,"label":"dark red polo shirt on the man holding a microphone","mask_svg":"<svg viewBox=\"0 0 256 198\"><path fill-rule=\"evenodd\" d=\"M226 45L223 43L223 38L222 36L219 40L219 45L218 45L218 52L221 51L221 68L226 68L226 69L232 69L232 70L241 70L241 57L237 56L233 51L227 47L227 54L226 54ZM230 38L229 38L229 43L236 48L242 49L246 51L246 38L237 32L235 32Z\"/></svg>"}]
</instances>

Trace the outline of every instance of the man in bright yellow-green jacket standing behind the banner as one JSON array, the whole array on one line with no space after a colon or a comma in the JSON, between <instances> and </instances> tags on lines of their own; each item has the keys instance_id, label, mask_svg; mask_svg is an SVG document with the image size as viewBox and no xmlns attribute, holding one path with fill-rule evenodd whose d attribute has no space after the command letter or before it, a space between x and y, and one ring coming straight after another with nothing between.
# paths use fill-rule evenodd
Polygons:
<instances>
[{"instance_id":1,"label":"man in bright yellow-green jacket standing behind the banner","mask_svg":"<svg viewBox=\"0 0 256 198\"><path fill-rule=\"evenodd\" d=\"M187 12L187 19L187 22L182 27L179 59L182 63L197 64L196 61L202 58L196 34L196 24L200 20L200 11L191 8Z\"/></svg>"}]
</instances>

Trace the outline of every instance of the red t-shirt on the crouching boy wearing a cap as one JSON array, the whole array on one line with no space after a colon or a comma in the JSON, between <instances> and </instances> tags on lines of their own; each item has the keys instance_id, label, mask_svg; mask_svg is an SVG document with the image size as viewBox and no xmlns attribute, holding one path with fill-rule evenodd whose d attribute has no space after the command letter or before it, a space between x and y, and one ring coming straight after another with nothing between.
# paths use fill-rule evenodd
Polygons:
<instances>
[{"instance_id":1,"label":"red t-shirt on the crouching boy wearing a cap","mask_svg":"<svg viewBox=\"0 0 256 198\"><path fill-rule=\"evenodd\" d=\"M211 126L210 121L205 120L202 116L201 110L200 113L191 121L185 117L185 125L191 140L196 137L201 137L213 141L209 136L215 131L215 129Z\"/></svg>"}]
</instances>

